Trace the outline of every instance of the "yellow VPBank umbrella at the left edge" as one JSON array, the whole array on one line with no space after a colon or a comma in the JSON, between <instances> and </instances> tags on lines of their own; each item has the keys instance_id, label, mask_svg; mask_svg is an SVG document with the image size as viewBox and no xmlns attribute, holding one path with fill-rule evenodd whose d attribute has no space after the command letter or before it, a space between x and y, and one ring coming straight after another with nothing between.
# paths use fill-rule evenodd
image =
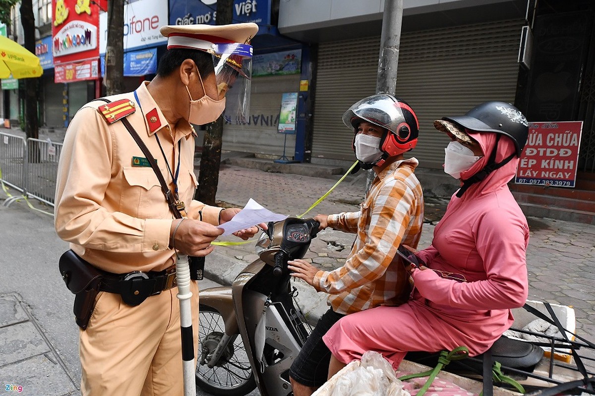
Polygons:
<instances>
[{"instance_id":1,"label":"yellow VPBank umbrella at the left edge","mask_svg":"<svg viewBox=\"0 0 595 396\"><path fill-rule=\"evenodd\" d=\"M8 37L0 36L0 78L40 77L39 58Z\"/></svg>"}]
</instances>

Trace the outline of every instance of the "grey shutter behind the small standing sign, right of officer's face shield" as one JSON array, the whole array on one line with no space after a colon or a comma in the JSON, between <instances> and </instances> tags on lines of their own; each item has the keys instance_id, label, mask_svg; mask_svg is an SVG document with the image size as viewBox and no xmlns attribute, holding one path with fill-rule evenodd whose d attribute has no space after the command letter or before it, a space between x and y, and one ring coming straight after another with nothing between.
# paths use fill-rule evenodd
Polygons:
<instances>
[{"instance_id":1,"label":"grey shutter behind the small standing sign, right of officer's face shield","mask_svg":"<svg viewBox=\"0 0 595 396\"><path fill-rule=\"evenodd\" d=\"M250 123L223 125L223 150L280 157L285 135L277 132L281 96L299 91L299 74L255 77L250 87ZM286 156L295 153L295 134L287 135Z\"/></svg>"}]
</instances>

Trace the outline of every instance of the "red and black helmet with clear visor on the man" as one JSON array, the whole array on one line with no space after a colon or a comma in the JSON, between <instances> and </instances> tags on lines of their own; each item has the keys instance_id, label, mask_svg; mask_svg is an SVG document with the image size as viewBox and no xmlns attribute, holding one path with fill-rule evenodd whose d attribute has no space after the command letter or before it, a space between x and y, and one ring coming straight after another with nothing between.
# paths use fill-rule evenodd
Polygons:
<instances>
[{"instance_id":1,"label":"red and black helmet with clear visor on the man","mask_svg":"<svg viewBox=\"0 0 595 396\"><path fill-rule=\"evenodd\" d=\"M390 94L375 94L354 103L343 114L343 123L354 129L352 148L359 123L367 121L387 129L380 140L383 156L372 165L381 166L389 157L412 150L417 144L419 121L409 104Z\"/></svg>"}]
</instances>

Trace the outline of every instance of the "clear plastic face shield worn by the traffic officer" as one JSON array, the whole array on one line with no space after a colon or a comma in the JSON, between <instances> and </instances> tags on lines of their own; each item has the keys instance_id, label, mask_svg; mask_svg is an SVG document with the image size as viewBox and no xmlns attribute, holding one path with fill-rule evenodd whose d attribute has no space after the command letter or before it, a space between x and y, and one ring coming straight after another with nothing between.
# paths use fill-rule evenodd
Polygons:
<instances>
[{"instance_id":1,"label":"clear plastic face shield worn by the traffic officer","mask_svg":"<svg viewBox=\"0 0 595 396\"><path fill-rule=\"evenodd\" d=\"M213 62L219 99L226 98L223 117L228 123L246 123L250 119L252 46L230 43L214 47Z\"/></svg>"}]
</instances>

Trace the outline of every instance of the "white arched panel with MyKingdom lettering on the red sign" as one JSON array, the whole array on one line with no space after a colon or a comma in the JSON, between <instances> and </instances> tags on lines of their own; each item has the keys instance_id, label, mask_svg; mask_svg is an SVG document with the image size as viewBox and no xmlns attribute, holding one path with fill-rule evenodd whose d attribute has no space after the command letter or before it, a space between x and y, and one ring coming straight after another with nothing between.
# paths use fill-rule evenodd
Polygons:
<instances>
[{"instance_id":1,"label":"white arched panel with MyKingdom lettering on the red sign","mask_svg":"<svg viewBox=\"0 0 595 396\"><path fill-rule=\"evenodd\" d=\"M96 49L97 27L84 21L72 21L55 34L53 47L54 56Z\"/></svg>"}]
</instances>

